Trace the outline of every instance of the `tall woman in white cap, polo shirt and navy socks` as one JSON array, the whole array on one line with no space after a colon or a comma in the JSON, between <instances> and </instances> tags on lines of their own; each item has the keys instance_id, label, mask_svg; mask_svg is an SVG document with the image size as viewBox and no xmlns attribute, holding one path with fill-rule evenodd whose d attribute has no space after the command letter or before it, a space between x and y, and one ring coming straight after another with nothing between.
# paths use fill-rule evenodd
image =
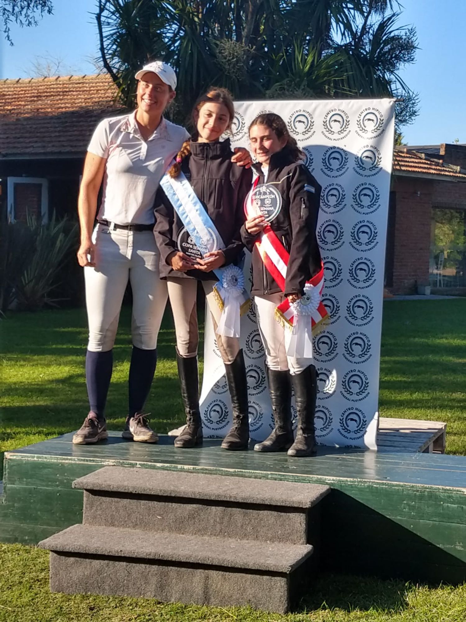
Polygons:
<instances>
[{"instance_id":1,"label":"tall woman in white cap, polo shirt and navy socks","mask_svg":"<svg viewBox=\"0 0 466 622\"><path fill-rule=\"evenodd\" d=\"M104 418L112 375L112 348L128 281L132 289L132 355L129 411L123 437L155 443L142 409L157 363L157 335L167 303L167 283L160 281L153 236L153 202L158 184L184 141L185 128L163 118L175 97L176 75L160 61L135 74L137 109L104 119L94 131L86 155L78 200L81 244L78 261L85 268L89 343L86 384L89 414L73 443L106 439ZM234 159L249 162L249 154ZM103 195L97 213L99 188ZM97 225L94 221L97 213Z\"/></svg>"}]
</instances>

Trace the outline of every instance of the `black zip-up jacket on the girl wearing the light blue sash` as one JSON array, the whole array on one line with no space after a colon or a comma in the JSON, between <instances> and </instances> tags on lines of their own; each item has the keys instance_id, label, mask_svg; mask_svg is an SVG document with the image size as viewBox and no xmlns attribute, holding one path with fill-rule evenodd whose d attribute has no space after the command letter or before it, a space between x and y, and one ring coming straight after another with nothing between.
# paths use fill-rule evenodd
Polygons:
<instances>
[{"instance_id":1,"label":"black zip-up jacket on the girl wearing the light blue sash","mask_svg":"<svg viewBox=\"0 0 466 622\"><path fill-rule=\"evenodd\" d=\"M240 228L245 220L244 200L250 190L252 170L231 162L230 141L191 142L191 152L183 158L181 170L193 187L224 241L225 266L239 259L243 249ZM160 277L216 279L214 272L188 270L178 272L167 262L173 251L182 251L192 258L201 253L185 230L162 187L155 197L155 239L160 250Z\"/></svg>"}]
</instances>

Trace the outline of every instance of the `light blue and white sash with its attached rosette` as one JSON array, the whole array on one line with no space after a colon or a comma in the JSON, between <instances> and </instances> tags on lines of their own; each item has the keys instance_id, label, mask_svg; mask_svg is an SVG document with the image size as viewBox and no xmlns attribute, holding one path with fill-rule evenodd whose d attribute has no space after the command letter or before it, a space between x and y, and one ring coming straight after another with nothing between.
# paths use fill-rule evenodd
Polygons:
<instances>
[{"instance_id":1,"label":"light blue and white sash with its attached rosette","mask_svg":"<svg viewBox=\"0 0 466 622\"><path fill-rule=\"evenodd\" d=\"M160 185L202 256L225 248L211 217L182 172L176 178L165 173ZM230 264L213 272L219 279L214 285L214 295L222 310L217 334L239 337L240 315L249 309L250 304L249 295L244 289L243 271L240 267Z\"/></svg>"}]
</instances>

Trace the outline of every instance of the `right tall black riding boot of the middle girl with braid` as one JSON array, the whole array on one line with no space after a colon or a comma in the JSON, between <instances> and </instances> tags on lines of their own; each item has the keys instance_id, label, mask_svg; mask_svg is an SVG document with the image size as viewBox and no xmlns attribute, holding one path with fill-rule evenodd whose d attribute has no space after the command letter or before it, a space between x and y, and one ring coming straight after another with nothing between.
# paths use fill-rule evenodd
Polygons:
<instances>
[{"instance_id":1,"label":"right tall black riding boot of the middle girl with braid","mask_svg":"<svg viewBox=\"0 0 466 622\"><path fill-rule=\"evenodd\" d=\"M249 414L247 402L246 367L240 350L232 363L225 363L225 373L233 410L233 425L223 439L222 448L247 449L249 443Z\"/></svg>"}]
</instances>

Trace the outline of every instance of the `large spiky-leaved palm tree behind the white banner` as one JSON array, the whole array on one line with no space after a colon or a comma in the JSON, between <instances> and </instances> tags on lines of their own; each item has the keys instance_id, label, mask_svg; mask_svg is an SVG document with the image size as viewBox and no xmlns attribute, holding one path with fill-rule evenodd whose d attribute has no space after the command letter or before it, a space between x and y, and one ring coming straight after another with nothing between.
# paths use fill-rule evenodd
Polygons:
<instances>
[{"instance_id":1,"label":"large spiky-leaved palm tree behind the white banner","mask_svg":"<svg viewBox=\"0 0 466 622\"><path fill-rule=\"evenodd\" d=\"M414 28L397 27L396 0L99 0L96 19L107 71L131 105L134 72L164 58L178 73L185 121L209 85L235 98L403 98L401 121L417 114L400 78L414 61Z\"/></svg>"}]
</instances>

